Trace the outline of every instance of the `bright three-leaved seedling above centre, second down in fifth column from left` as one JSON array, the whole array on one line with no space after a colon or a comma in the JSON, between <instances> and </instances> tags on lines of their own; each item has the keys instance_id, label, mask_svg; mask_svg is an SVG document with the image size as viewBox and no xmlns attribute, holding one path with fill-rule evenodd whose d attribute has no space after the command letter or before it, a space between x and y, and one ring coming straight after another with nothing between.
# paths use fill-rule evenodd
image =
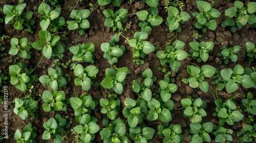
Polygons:
<instances>
[{"instance_id":1,"label":"bright three-leaved seedling above centre, second down in fifth column from left","mask_svg":"<svg viewBox=\"0 0 256 143\"><path fill-rule=\"evenodd\" d=\"M128 41L132 47L133 57L144 58L147 54L150 54L156 50L155 46L146 41L148 34L146 32L136 32L134 39Z\"/></svg>"}]
</instances>

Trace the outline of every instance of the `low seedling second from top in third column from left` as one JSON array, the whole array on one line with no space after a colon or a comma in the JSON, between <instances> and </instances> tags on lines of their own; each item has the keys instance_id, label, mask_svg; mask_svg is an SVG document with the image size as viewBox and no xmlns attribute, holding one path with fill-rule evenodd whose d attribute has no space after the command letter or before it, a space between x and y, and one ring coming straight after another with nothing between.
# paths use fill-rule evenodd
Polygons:
<instances>
[{"instance_id":1,"label":"low seedling second from top in third column from left","mask_svg":"<svg viewBox=\"0 0 256 143\"><path fill-rule=\"evenodd\" d=\"M69 50L72 54L74 54L72 60L79 61L79 62L90 62L94 63L94 51L95 51L95 44L88 43L88 44L78 44L75 46L69 47Z\"/></svg>"}]
</instances>

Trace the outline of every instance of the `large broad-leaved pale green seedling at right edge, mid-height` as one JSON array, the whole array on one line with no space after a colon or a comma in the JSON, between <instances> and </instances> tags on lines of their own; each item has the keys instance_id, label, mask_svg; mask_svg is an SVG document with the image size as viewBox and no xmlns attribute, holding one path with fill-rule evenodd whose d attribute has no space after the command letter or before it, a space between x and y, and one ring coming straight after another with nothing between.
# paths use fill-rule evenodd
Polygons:
<instances>
[{"instance_id":1,"label":"large broad-leaved pale green seedling at right edge, mid-height","mask_svg":"<svg viewBox=\"0 0 256 143\"><path fill-rule=\"evenodd\" d=\"M241 83L245 88L255 86L251 77L244 74L244 68L240 64L237 64L233 70L231 68L222 69L221 76L224 83L226 82L226 90L228 93L236 91Z\"/></svg>"}]
</instances>

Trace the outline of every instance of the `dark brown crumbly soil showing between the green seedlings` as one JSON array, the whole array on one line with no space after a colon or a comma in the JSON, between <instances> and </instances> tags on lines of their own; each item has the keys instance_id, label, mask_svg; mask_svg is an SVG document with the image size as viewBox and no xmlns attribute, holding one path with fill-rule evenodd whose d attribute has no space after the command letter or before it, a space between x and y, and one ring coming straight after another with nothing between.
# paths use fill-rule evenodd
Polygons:
<instances>
[{"instance_id":1,"label":"dark brown crumbly soil showing between the green seedlings","mask_svg":"<svg viewBox=\"0 0 256 143\"><path fill-rule=\"evenodd\" d=\"M8 62L10 58L16 58L16 57L10 57L8 54L8 51L10 50L10 40L13 37L27 37L29 41L34 42L39 39L38 37L38 32L40 30L39 22L40 22L40 14L38 14L37 9L38 6L40 5L42 1L26 1L27 7L25 8L26 11L33 11L33 19L36 20L35 25L32 27L32 30L34 31L33 34L28 33L26 31L17 31L13 28L13 25L4 25L1 23L0 29L2 29L2 33L0 36L7 35L9 38L4 39L3 41L0 41L2 46L6 47L6 50L4 51L4 57L0 57L0 69L2 70L2 73L5 74L5 76L8 76L8 80L10 79L9 76L9 65L16 64L16 62ZM193 16L191 16L190 20L187 21L183 25L183 30L181 33L178 33L176 37L174 37L172 34L169 33L168 27L165 25L165 19L167 17L167 12L164 9L164 0L161 0L159 3L159 15L164 19L162 24L160 26L154 27L152 29L151 35L149 36L148 40L153 43L156 47L156 51L153 54L149 54L145 59L145 64L142 65L142 69L146 68L151 68L153 71L154 76L157 77L157 82L155 82L155 86L159 87L158 82L159 80L162 80L164 77L164 74L157 70L157 66L160 66L160 61L156 57L156 52L159 51L159 47L162 47L162 49L165 49L165 44L168 43L171 39L174 41L175 39L182 40L184 41L185 47L184 50L189 53L190 46L188 45L189 42L191 41L213 41L215 43L215 48L210 52L210 57L207 62L201 62L197 63L196 60L193 60L191 57L187 57L185 60L181 61L181 68L177 73L172 72L171 77L174 77L176 79L176 84L178 85L178 90L172 95L172 99L175 101L175 109L173 110L173 120L170 122L171 124L181 124L183 127L183 130L189 129L189 118L183 117L182 115L182 110L179 110L181 108L180 100L183 98L186 98L187 96L192 96L193 98L202 98L207 101L207 116L203 117L203 122L212 122L214 124L218 124L218 118L213 117L212 114L212 108L215 108L214 104L214 98L210 92L204 93L202 90L199 88L191 88L188 84L183 83L181 80L183 78L187 78L188 74L186 71L187 65L190 65L191 63L196 63L199 66L202 66L204 64L209 64L212 65L216 68L219 68L219 70L224 69L224 68L233 68L236 64L241 64L244 68L246 67L255 67L255 64L248 64L248 59L245 54L243 54L242 50L239 52L239 60L236 63L230 63L228 65L225 64L217 64L215 62L215 59L217 57L217 54L221 52L221 47L222 46L234 46L234 45L240 45L242 46L243 50L246 50L245 48L245 43L246 42L253 42L256 43L256 32L254 31L255 29L251 29L249 25L246 25L242 29L238 30L236 33L231 33L229 28L223 28L221 26L221 22L225 20L225 13L224 11L232 7L232 3L223 1L223 0L215 0L214 4L211 4L212 7L218 9L222 15L217 18L217 29L215 31L209 31L207 33L203 34L203 37L196 40L195 37L193 37L193 28L194 28L194 22L195 19ZM210 1L209 1L210 2ZM249 1L246 0L244 3L247 4ZM11 1L4 1L0 0L0 3L2 5L9 4L9 5L17 5L18 1L17 0L11 0ZM90 3L95 4L96 0L91 0ZM60 4L61 6L61 16L63 16L66 20L69 18L70 12L73 10L73 8L76 6L76 9L89 9L90 4L89 2L83 2L80 3L77 1L63 1L63 3ZM108 42L111 37L115 34L115 32L112 32L110 28L104 27L104 20L105 16L103 15L102 11L106 8L111 8L114 11L118 10L119 8L115 8L112 5L108 6L99 6L96 5L94 8L93 12L91 15L88 17L88 20L90 21L90 29L86 30L86 34L80 35L78 33L78 30L70 31L69 34L66 35L66 37L62 37L67 43L66 45L68 47L77 45L79 43L95 43L96 49L95 49L95 65L99 67L99 73L97 75L97 78L94 80L94 82L100 83L104 79L104 74L105 74L105 68L113 67L108 63L107 59L103 58L103 52L100 50L100 45L103 42ZM142 3L132 3L130 4L130 1L125 0L120 8L126 8L129 10L129 14L136 13L137 11L140 11L142 9L147 10L149 7L147 5L142 5ZM196 0L184 0L184 7L183 10L188 12L190 15L192 15L193 12L198 11L196 7ZM5 17L3 13L1 13L1 17ZM136 15L130 15L128 16L127 23L132 22L131 28L127 29L127 32L123 32L123 35L125 37L129 37L130 39L133 38L133 34L136 31L140 31L140 28L138 27L138 18ZM125 25L123 25L125 26ZM68 31L67 27L65 27L65 30ZM195 29L195 31L200 30ZM127 75L124 85L124 90L123 93L118 97L118 99L121 100L121 107L124 107L124 100L126 98L137 98L137 94L133 92L132 88L132 81L133 80L138 80L141 78L141 67L139 65L136 65L133 62L133 53L131 51L131 47L129 44L125 43L125 39L121 37L121 40L119 42L120 45L125 45L126 47L126 52L124 55L118 60L117 67L129 67L131 69L131 74ZM27 64L28 68L34 68L40 61L41 57L41 51L37 51L32 49L32 58L31 60L25 60L25 59L18 59L17 61L23 61ZM67 51L65 53L65 57L61 60L61 62L67 62L69 59L72 58L72 53ZM57 57L52 57L50 60L43 58L42 61L39 63L39 66L33 71L33 74L37 74L38 77L47 74L47 69L49 67L52 67L53 60ZM89 65L88 63L83 63L84 66ZM73 71L70 69L71 67L65 69L62 68L64 71L64 74L69 74L71 76L71 81L68 83L68 86L66 89L63 89L63 91L66 92L67 98L75 97L75 93L77 95L81 95L84 93L84 91L81 89L81 87L75 87L74 84L74 75ZM209 81L210 82L210 81ZM17 116L14 112L14 106L15 104L12 102L15 98L24 98L26 94L29 92L21 92L15 88L15 86L11 85L9 82L6 84L8 86L8 94L9 94L9 118L8 118L8 134L10 135L10 138L4 139L3 142L15 142L14 139L14 133L16 129L23 130L24 126L27 125L28 123L32 123L33 126L37 127L38 132L37 132L37 142L51 142L50 140L42 140L41 136L42 133L44 132L44 128L42 127L42 124L46 121L49 120L50 117L54 116L56 113L61 113L62 116L69 116L69 118L73 118L73 123L71 127L69 128L68 133L66 136L68 138L65 138L65 142L72 142L75 138L75 135L72 134L70 131L74 126L76 126L78 123L74 120L74 112L73 109L71 108L70 105L68 105L68 110L66 112L45 112L42 110L41 103L38 103L38 110L37 114L38 119L37 120L28 120L28 121L23 121L19 116ZM75 88L74 88L75 87ZM74 90L73 90L74 89ZM210 85L210 90L216 95L216 86L215 85ZM35 91L33 92L33 96L35 96L35 99L39 99L39 94L41 94L44 90L50 90L50 88L46 85L42 85L40 82L37 82L35 85ZM157 90L157 89L155 89ZM110 90L113 92L112 90ZM226 93L225 90L218 92L219 98L222 99L230 99L231 97L234 96L235 93L240 93L240 96L236 99L239 104L241 104L241 99L246 97L246 94L248 91L251 91L254 96L256 96L255 89L246 89L246 88L241 88L233 93ZM101 98L104 98L104 95L102 93L102 90L96 89L95 86L93 85L92 88L87 92L93 96L93 98L97 101L99 101ZM106 92L104 92L106 94ZM2 111L4 109L4 105L0 105L0 111L2 114ZM103 129L104 126L101 124L101 121L106 115L100 113L101 107L98 105L96 109L93 112L93 115L98 118L98 124L100 126L100 129ZM124 118L121 115L122 110L120 111L120 114L118 117L123 118L124 121L126 121L126 118ZM4 136L4 123L5 118L1 115L0 117L0 135ZM244 121L246 122L246 121ZM236 136L236 132L240 131L242 128L243 122L239 122L234 124L233 126L226 126L226 128L230 128L234 131L232 134L233 136L233 142L238 141L238 137ZM157 131L157 126L151 126L156 129ZM129 131L129 129L127 130ZM183 132L184 133L184 132ZM99 133L98 133L99 135ZM161 137L157 137L155 139L155 142L162 142ZM103 142L100 137L96 137L95 142ZM153 140L152 140L153 142ZM189 140L186 138L184 142L189 142Z\"/></svg>"}]
</instances>

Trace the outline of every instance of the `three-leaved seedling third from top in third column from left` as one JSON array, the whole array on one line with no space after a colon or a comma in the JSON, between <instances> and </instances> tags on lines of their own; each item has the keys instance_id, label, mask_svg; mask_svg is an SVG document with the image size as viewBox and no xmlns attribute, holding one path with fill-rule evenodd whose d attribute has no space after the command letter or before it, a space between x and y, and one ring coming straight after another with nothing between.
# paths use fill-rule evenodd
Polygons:
<instances>
[{"instance_id":1,"label":"three-leaved seedling third from top in third column from left","mask_svg":"<svg viewBox=\"0 0 256 143\"><path fill-rule=\"evenodd\" d=\"M95 65L88 65L86 68L83 68L81 64L75 65L74 75L77 77L74 81L75 85L82 86L82 90L88 91L98 72L99 68Z\"/></svg>"}]
</instances>

